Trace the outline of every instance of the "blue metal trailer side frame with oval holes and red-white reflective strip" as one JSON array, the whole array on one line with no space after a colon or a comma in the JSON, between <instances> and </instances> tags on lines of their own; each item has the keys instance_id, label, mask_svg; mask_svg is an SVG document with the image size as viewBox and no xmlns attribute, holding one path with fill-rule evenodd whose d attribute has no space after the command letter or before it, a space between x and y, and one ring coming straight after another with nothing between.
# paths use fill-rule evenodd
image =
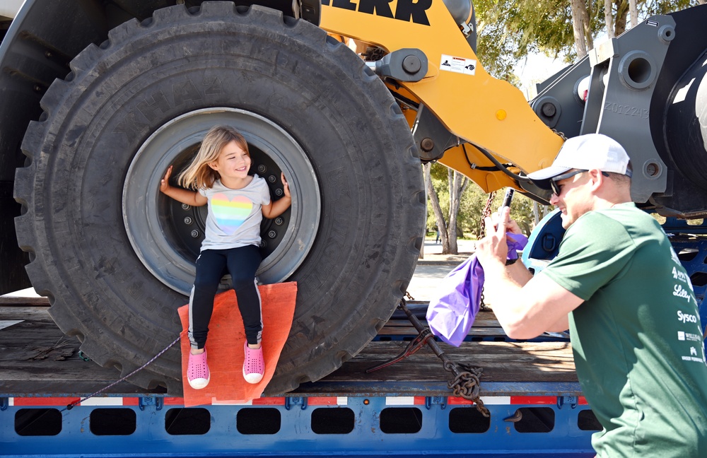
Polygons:
<instances>
[{"instance_id":1,"label":"blue metal trailer side frame with oval holes and red-white reflective strip","mask_svg":"<svg viewBox=\"0 0 707 458\"><path fill-rule=\"evenodd\" d=\"M549 390L552 387L547 387ZM594 456L578 397L281 397L187 408L180 398L2 398L12 457Z\"/></svg>"}]
</instances>

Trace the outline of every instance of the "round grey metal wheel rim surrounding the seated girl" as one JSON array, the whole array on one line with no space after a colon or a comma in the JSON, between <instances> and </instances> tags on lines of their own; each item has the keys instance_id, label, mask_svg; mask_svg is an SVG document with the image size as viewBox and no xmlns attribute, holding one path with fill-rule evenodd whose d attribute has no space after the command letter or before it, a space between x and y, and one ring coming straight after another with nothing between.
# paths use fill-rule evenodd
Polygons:
<instances>
[{"instance_id":1,"label":"round grey metal wheel rim surrounding the seated girl","mask_svg":"<svg viewBox=\"0 0 707 458\"><path fill-rule=\"evenodd\" d=\"M250 148L251 172L264 177L277 198L280 172L288 180L292 206L261 225L261 283L291 276L312 247L319 225L320 189L312 165L297 141L258 114L233 108L196 110L160 127L139 148L123 185L122 211L130 244L142 264L162 283L184 295L194 283L194 262L204 238L206 206L191 208L159 192L160 180L174 165L172 180L197 152L211 127L238 129ZM173 182L173 184L175 184Z\"/></svg>"}]
</instances>

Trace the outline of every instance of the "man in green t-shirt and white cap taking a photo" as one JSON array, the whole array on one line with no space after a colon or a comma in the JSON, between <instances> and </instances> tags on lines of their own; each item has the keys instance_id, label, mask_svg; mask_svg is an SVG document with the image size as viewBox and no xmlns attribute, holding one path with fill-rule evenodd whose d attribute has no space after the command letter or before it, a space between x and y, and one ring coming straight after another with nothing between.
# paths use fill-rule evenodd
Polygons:
<instances>
[{"instance_id":1,"label":"man in green t-shirt and white cap taking a photo","mask_svg":"<svg viewBox=\"0 0 707 458\"><path fill-rule=\"evenodd\" d=\"M599 457L707 457L707 365L692 284L654 218L631 201L629 156L588 134L529 177L552 189L566 233L532 276L506 266L509 209L477 243L485 294L508 336L570 330Z\"/></svg>"}]
</instances>

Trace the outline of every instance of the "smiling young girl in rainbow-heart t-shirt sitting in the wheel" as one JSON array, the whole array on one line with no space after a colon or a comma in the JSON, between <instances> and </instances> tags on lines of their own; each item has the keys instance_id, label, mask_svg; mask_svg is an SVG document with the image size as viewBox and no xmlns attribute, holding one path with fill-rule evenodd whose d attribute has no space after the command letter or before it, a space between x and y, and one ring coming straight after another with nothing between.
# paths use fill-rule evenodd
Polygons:
<instances>
[{"instance_id":1,"label":"smiling young girl in rainbow-heart t-shirt sitting in the wheel","mask_svg":"<svg viewBox=\"0 0 707 458\"><path fill-rule=\"evenodd\" d=\"M199 153L179 176L179 184L189 189L170 186L171 166L160 183L161 192L182 204L209 204L206 235L189 296L191 351L187 380L194 389L206 387L211 379L204 345L216 288L227 271L233 278L245 327L243 377L246 382L257 383L265 371L260 294L255 280L255 271L262 261L260 222L263 216L280 216L292 200L284 174L281 175L284 196L273 202L265 180L258 175L248 175L248 170L250 153L243 135L231 127L216 126L206 133Z\"/></svg>"}]
</instances>

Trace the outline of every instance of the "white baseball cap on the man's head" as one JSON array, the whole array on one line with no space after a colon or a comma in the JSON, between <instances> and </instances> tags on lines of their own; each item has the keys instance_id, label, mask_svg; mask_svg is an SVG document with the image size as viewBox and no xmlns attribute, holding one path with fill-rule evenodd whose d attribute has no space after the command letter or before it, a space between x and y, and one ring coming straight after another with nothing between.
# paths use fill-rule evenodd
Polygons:
<instances>
[{"instance_id":1,"label":"white baseball cap on the man's head","mask_svg":"<svg viewBox=\"0 0 707 458\"><path fill-rule=\"evenodd\" d=\"M572 169L601 170L631 176L629 155L619 142L604 134L586 134L568 139L552 165L529 173L528 178L538 187L550 189L551 178Z\"/></svg>"}]
</instances>

